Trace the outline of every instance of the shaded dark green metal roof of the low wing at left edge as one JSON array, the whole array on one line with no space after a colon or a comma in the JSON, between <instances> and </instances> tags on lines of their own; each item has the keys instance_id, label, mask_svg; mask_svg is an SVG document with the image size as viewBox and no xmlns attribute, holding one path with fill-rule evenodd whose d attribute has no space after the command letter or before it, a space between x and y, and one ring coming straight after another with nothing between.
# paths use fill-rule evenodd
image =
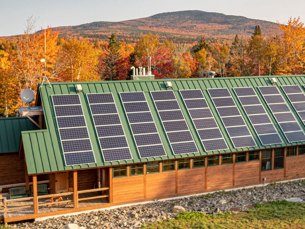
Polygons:
<instances>
[{"instance_id":1,"label":"shaded dark green metal roof of the low wing at left edge","mask_svg":"<svg viewBox=\"0 0 305 229\"><path fill-rule=\"evenodd\" d=\"M21 131L39 129L27 117L0 118L0 153L18 152Z\"/></svg>"}]
</instances>

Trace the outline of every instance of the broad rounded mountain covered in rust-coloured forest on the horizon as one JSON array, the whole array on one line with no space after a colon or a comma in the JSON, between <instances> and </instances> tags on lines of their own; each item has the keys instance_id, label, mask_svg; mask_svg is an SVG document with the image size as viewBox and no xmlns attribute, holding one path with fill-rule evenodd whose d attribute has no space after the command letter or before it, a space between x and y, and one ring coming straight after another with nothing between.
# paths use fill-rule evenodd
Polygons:
<instances>
[{"instance_id":1,"label":"broad rounded mountain covered in rust-coloured forest on the horizon","mask_svg":"<svg viewBox=\"0 0 305 229\"><path fill-rule=\"evenodd\" d=\"M159 34L161 39L192 43L202 36L230 40L235 34L249 37L256 25L260 25L263 35L274 35L280 32L280 27L276 23L199 10L159 13L134 20L99 21L55 29L59 32L59 37L81 36L108 40L109 36L115 33L118 40L129 41L151 32Z\"/></svg>"}]
</instances>

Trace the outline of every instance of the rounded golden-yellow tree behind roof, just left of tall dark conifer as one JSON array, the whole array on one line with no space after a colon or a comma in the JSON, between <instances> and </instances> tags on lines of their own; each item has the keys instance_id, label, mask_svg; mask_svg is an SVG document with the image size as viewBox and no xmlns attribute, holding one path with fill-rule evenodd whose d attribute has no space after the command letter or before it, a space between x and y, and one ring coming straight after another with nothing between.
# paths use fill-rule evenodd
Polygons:
<instances>
[{"instance_id":1,"label":"rounded golden-yellow tree behind roof, just left of tall dark conifer","mask_svg":"<svg viewBox=\"0 0 305 229\"><path fill-rule=\"evenodd\" d=\"M98 80L98 53L94 45L88 41L76 38L66 40L62 47L62 61L65 71L63 80L66 81L94 81Z\"/></svg>"}]
</instances>

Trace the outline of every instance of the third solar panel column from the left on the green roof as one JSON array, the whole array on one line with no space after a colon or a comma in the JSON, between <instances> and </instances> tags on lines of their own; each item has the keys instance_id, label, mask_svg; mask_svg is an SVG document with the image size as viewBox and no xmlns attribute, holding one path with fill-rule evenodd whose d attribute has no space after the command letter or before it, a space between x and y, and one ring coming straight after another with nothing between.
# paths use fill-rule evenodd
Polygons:
<instances>
[{"instance_id":1,"label":"third solar panel column from the left on the green roof","mask_svg":"<svg viewBox=\"0 0 305 229\"><path fill-rule=\"evenodd\" d=\"M166 156L144 92L121 92L120 96L140 157Z\"/></svg>"}]
</instances>

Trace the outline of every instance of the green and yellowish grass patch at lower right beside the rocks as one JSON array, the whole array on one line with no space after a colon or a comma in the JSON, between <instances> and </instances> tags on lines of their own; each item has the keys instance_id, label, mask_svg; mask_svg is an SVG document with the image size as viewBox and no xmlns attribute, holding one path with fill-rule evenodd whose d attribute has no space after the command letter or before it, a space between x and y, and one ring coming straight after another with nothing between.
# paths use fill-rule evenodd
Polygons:
<instances>
[{"instance_id":1,"label":"green and yellowish grass patch at lower right beside the rocks","mask_svg":"<svg viewBox=\"0 0 305 229\"><path fill-rule=\"evenodd\" d=\"M282 200L255 204L255 209L238 214L184 212L174 220L159 221L143 228L305 228L304 212L305 204Z\"/></svg>"}]
</instances>

